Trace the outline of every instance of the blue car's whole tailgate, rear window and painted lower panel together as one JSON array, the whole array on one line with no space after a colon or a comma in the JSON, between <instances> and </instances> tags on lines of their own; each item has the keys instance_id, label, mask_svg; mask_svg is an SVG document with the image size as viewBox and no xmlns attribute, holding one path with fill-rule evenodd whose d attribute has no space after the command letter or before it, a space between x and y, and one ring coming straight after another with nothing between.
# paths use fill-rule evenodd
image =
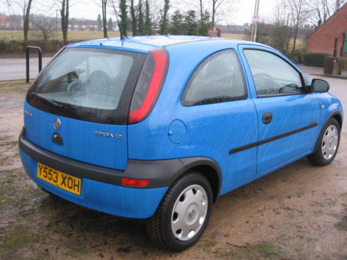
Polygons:
<instances>
[{"instance_id":1,"label":"blue car's whole tailgate, rear window and painted lower panel together","mask_svg":"<svg viewBox=\"0 0 347 260\"><path fill-rule=\"evenodd\" d=\"M124 170L130 100L145 58L111 49L62 51L28 91L26 138L57 155Z\"/></svg>"}]
</instances>

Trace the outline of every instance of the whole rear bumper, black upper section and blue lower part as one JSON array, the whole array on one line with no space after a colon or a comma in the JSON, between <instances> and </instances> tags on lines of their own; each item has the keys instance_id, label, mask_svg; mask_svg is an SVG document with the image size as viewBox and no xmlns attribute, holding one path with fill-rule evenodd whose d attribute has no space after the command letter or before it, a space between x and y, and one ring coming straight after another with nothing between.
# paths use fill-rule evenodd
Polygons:
<instances>
[{"instance_id":1,"label":"whole rear bumper, black upper section and blue lower part","mask_svg":"<svg viewBox=\"0 0 347 260\"><path fill-rule=\"evenodd\" d=\"M78 205L126 218L153 216L164 193L189 168L211 166L221 180L219 166L206 157L152 161L128 159L125 171L79 162L36 146L26 138L24 128L19 135L19 154L27 175L43 189ZM81 178L81 195L75 195L37 178L38 162ZM124 187L121 185L122 177L149 179L150 182L142 188ZM220 187L221 182L218 184L217 194Z\"/></svg>"}]
</instances>

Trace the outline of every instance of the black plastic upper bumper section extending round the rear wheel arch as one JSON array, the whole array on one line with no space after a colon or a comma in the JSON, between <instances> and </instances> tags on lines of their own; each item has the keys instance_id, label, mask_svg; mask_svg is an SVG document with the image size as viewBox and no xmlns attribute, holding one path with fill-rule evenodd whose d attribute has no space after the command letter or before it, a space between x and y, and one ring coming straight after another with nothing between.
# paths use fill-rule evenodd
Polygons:
<instances>
[{"instance_id":1,"label":"black plastic upper bumper section extending round the rear wheel arch","mask_svg":"<svg viewBox=\"0 0 347 260\"><path fill-rule=\"evenodd\" d=\"M62 155L57 155L56 153L52 153L49 150L33 144L26 138L24 128L19 135L19 148L37 162L46 164L63 173L69 173L76 177L109 184L121 185L122 177L130 177L149 179L149 185L143 187L146 189L169 187L180 175L185 173L189 168L197 165L212 166L217 171L219 180L221 180L219 166L212 159L205 157L186 157L151 161L128 159L128 165L125 171L87 164L85 162L69 159Z\"/></svg>"}]
</instances>

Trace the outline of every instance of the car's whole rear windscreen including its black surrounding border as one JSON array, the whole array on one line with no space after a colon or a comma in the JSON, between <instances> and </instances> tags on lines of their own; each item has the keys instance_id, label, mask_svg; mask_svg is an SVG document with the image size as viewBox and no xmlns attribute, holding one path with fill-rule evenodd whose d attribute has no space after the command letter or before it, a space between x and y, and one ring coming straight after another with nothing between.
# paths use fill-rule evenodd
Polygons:
<instances>
[{"instance_id":1,"label":"car's whole rear windscreen including its black surrounding border","mask_svg":"<svg viewBox=\"0 0 347 260\"><path fill-rule=\"evenodd\" d=\"M53 113L62 116L125 124L124 116L128 115L130 97L145 56L110 49L65 49L35 80L27 100L48 112L57 103L62 111L56 107ZM35 98L41 99L40 105L30 102ZM53 104L47 101L53 101ZM115 111L121 114L121 120L115 118Z\"/></svg>"}]
</instances>

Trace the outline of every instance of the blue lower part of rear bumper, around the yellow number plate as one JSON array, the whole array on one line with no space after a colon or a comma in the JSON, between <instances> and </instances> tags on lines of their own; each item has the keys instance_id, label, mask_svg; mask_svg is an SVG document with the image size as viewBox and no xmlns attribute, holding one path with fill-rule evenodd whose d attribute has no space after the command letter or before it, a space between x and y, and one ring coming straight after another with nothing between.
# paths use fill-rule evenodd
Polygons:
<instances>
[{"instance_id":1,"label":"blue lower part of rear bumper, around the yellow number plate","mask_svg":"<svg viewBox=\"0 0 347 260\"><path fill-rule=\"evenodd\" d=\"M38 186L65 200L115 216L149 218L155 213L162 196L167 191L167 187L135 189L83 178L81 195L77 196L37 178L37 160L22 149L19 149L19 154L26 174ZM71 172L65 173L74 175Z\"/></svg>"}]
</instances>

